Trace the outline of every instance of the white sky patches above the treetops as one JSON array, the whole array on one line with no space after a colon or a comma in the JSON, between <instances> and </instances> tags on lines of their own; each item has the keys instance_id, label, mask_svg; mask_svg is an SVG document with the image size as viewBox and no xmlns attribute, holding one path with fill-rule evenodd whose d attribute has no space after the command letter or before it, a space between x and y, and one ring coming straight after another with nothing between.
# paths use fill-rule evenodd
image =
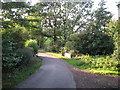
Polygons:
<instances>
[{"instance_id":1,"label":"white sky patches above the treetops","mask_svg":"<svg viewBox=\"0 0 120 90\"><path fill-rule=\"evenodd\" d=\"M31 1L32 4L35 4L39 0L29 0L29 1ZM94 2L93 9L96 9L96 7L98 6L98 3L101 0L92 0L92 1ZM118 19L118 7L116 5L120 0L105 0L105 1L106 1L106 7L108 8L107 10L113 14L113 19Z\"/></svg>"}]
</instances>

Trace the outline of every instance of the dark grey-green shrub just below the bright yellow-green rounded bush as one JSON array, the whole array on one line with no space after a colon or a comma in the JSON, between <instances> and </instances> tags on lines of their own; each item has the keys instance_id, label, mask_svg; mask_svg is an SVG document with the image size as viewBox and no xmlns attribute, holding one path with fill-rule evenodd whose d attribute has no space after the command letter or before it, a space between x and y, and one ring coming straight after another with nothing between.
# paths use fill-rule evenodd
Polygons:
<instances>
[{"instance_id":1,"label":"dark grey-green shrub just below the bright yellow-green rounded bush","mask_svg":"<svg viewBox=\"0 0 120 90\"><path fill-rule=\"evenodd\" d=\"M27 65L30 60L32 60L34 56L34 50L33 48L19 48L17 52L22 55L22 60L19 63L19 66L21 65Z\"/></svg>"}]
</instances>

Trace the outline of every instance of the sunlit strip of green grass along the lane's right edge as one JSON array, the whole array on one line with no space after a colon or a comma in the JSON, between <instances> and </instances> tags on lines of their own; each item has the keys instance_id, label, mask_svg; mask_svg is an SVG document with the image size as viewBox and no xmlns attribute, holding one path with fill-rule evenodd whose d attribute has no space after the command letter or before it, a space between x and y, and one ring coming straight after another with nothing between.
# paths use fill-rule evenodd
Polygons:
<instances>
[{"instance_id":1,"label":"sunlit strip of green grass along the lane's right edge","mask_svg":"<svg viewBox=\"0 0 120 90\"><path fill-rule=\"evenodd\" d=\"M39 50L39 52L44 52L44 53L48 53L48 54L54 55L56 57L59 57L65 61L67 61L69 64L73 65L74 67L79 68L81 70L87 70L92 73L120 75L120 72L118 72L118 71L104 70L102 68L91 68L89 65L83 64L80 60L66 58L66 57L62 56L60 53L45 52L44 50Z\"/></svg>"}]
</instances>

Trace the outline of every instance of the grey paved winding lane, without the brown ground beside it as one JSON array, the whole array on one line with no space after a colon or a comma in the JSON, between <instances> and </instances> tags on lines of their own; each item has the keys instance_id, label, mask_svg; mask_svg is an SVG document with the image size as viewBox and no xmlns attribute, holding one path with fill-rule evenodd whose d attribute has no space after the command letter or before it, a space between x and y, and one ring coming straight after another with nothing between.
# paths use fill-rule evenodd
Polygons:
<instances>
[{"instance_id":1,"label":"grey paved winding lane, without the brown ground beside it","mask_svg":"<svg viewBox=\"0 0 120 90\"><path fill-rule=\"evenodd\" d=\"M38 53L42 66L35 74L15 86L15 88L76 88L74 77L61 59Z\"/></svg>"}]
</instances>

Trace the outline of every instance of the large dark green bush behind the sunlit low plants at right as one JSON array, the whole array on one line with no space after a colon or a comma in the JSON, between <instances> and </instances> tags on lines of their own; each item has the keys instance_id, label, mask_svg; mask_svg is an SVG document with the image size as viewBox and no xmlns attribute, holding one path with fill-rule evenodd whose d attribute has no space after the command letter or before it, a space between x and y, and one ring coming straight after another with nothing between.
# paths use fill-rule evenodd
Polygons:
<instances>
[{"instance_id":1,"label":"large dark green bush behind the sunlit low plants at right","mask_svg":"<svg viewBox=\"0 0 120 90\"><path fill-rule=\"evenodd\" d=\"M106 55L113 53L113 40L104 33L85 34L82 38L83 53L90 55Z\"/></svg>"}]
</instances>

